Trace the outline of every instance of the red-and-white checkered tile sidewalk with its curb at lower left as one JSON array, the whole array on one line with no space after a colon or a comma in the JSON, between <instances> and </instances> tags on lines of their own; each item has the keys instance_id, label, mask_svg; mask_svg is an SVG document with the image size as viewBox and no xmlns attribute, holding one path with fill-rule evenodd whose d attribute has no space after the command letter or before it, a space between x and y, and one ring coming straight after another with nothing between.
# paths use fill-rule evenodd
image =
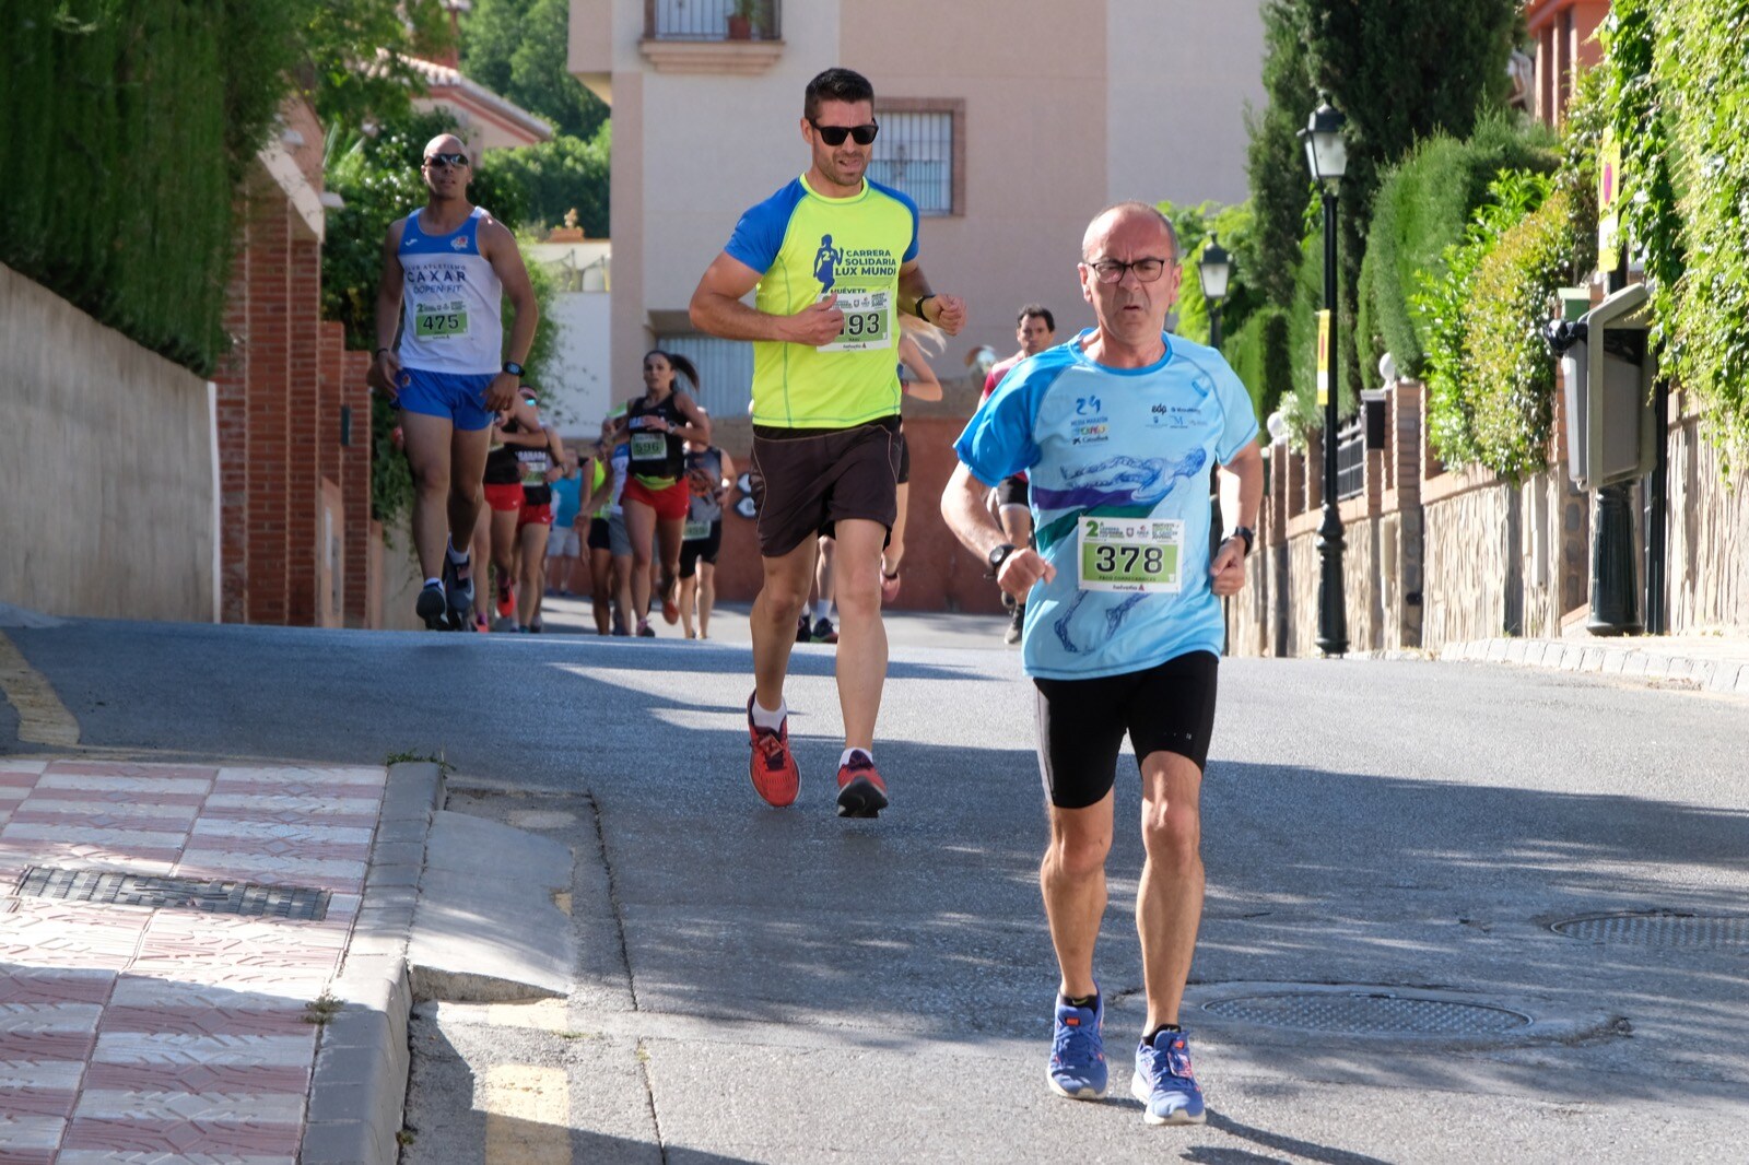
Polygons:
<instances>
[{"instance_id":1,"label":"red-and-white checkered tile sidewalk with its curb at lower left","mask_svg":"<svg viewBox=\"0 0 1749 1165\"><path fill-rule=\"evenodd\" d=\"M425 822L418 789L385 813L390 789L383 768L0 759L0 1162L292 1165L313 1118L303 1160L394 1160L399 1095L388 1118L364 1100L394 1095L395 992L339 978L362 936L406 980ZM359 1148L385 1137L387 1158Z\"/></svg>"}]
</instances>

